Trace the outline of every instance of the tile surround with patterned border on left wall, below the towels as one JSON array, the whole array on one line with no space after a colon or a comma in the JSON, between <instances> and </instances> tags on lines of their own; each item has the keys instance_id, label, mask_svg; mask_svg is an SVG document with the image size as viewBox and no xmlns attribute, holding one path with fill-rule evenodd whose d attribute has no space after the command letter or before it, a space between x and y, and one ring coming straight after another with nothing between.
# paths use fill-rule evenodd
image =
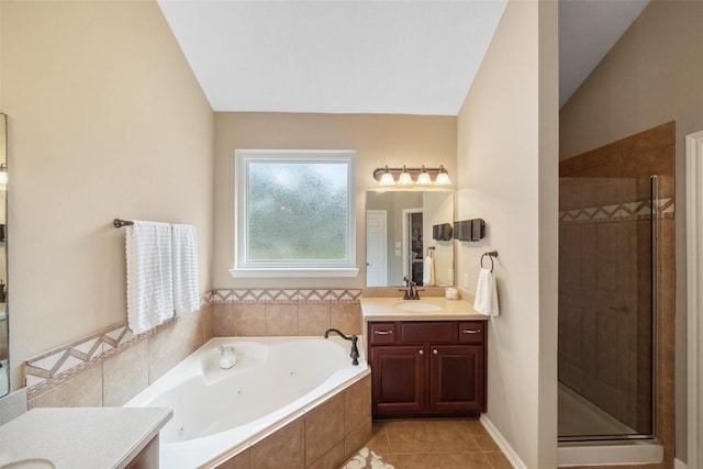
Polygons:
<instances>
[{"instance_id":1,"label":"tile surround with patterned border on left wall, below the towels","mask_svg":"<svg viewBox=\"0 0 703 469\"><path fill-rule=\"evenodd\" d=\"M27 407L119 406L211 337L212 304L134 336L126 322L25 362Z\"/></svg>"}]
</instances>

